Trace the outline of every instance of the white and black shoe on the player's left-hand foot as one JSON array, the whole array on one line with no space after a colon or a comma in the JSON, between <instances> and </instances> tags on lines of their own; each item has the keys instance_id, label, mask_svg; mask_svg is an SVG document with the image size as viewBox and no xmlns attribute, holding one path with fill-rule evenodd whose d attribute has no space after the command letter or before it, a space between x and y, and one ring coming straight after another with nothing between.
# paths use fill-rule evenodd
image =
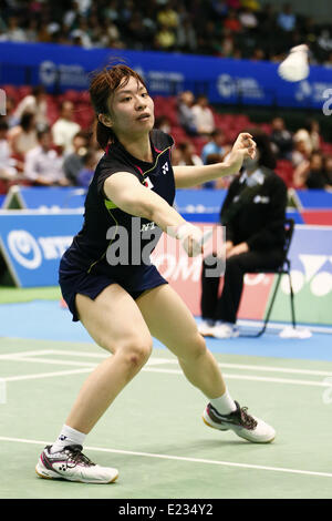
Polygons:
<instances>
[{"instance_id":1,"label":"white and black shoe on the player's left-hand foot","mask_svg":"<svg viewBox=\"0 0 332 521\"><path fill-rule=\"evenodd\" d=\"M44 479L65 479L81 483L113 483L118 476L116 469L100 467L82 453L83 447L72 445L60 452L44 448L38 460L35 472Z\"/></svg>"}]
</instances>

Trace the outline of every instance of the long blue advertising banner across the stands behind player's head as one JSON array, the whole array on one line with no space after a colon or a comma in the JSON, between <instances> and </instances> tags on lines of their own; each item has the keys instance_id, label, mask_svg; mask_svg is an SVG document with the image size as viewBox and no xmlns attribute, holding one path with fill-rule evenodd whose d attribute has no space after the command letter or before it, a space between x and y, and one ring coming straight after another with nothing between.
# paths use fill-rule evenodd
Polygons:
<instances>
[{"instance_id":1,"label":"long blue advertising banner across the stands behind player's head","mask_svg":"<svg viewBox=\"0 0 332 521\"><path fill-rule=\"evenodd\" d=\"M311 65L301 82L278 75L278 64L250 60L155 51L82 49L50 43L0 42L0 84L41 83L50 92L85 90L87 73L121 58L146 80L153 95L174 95L185 89L205 92L211 103L243 103L332 109L331 71Z\"/></svg>"}]
</instances>

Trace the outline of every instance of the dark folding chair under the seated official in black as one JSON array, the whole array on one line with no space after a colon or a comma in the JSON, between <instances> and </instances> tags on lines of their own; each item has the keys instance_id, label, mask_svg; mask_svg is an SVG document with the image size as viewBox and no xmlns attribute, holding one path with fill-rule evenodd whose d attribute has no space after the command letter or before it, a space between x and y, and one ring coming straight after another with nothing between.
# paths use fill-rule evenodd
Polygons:
<instances>
[{"instance_id":1,"label":"dark folding chair under the seated official in black","mask_svg":"<svg viewBox=\"0 0 332 521\"><path fill-rule=\"evenodd\" d=\"M242 337L257 338L257 337L260 337L266 331L269 319L270 319L270 316L271 316L271 313L272 313L273 304L274 304L274 300L276 300L276 296L277 296L277 293L278 293L278 288L279 288L282 275L288 275L289 288L290 288L291 319L292 319L292 326L293 326L293 328L295 328L294 293L293 293L293 288L292 288L292 280L291 280L291 273L290 273L291 262L290 262L289 256L288 256L289 248L290 248L290 245L291 245L291 242L292 242L293 231L294 231L294 221L292 218L287 218L284 221L284 234L286 234L286 241L284 241L284 247L283 247L284 255L283 255L283 260L282 260L281 265L278 268L274 268L274 269L257 269L257 270L251 270L250 272L250 273L276 274L276 275L278 275L278 278L277 278L277 283L276 283L276 286L274 286L274 290L273 290L273 295L271 297L269 308L268 308L267 314L266 314L266 318L264 318L264 323L263 323L262 328L258 333L252 334L252 335L249 335L249 334L248 335L242 335L241 334L240 336L242 336Z\"/></svg>"}]
</instances>

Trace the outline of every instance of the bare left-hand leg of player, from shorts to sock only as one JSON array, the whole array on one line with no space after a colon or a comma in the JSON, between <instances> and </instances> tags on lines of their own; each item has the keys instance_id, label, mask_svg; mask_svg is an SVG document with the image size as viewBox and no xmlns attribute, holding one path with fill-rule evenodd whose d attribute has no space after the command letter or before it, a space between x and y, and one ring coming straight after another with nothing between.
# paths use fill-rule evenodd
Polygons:
<instances>
[{"instance_id":1,"label":"bare left-hand leg of player, from shorts to sock only","mask_svg":"<svg viewBox=\"0 0 332 521\"><path fill-rule=\"evenodd\" d=\"M85 380L66 419L66 425L87 433L146 362L152 338L135 300L116 284L95 300L77 295L76 309L95 343L113 354Z\"/></svg>"}]
</instances>

